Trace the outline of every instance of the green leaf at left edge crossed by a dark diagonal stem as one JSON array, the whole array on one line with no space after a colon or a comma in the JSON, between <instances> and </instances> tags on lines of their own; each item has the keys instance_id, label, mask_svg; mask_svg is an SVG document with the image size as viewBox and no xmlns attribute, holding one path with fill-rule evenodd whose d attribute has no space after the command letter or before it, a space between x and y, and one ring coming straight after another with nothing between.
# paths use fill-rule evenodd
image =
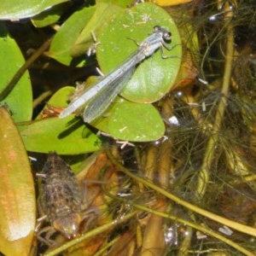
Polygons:
<instances>
[{"instance_id":1,"label":"green leaf at left edge crossed by a dark diagonal stem","mask_svg":"<svg viewBox=\"0 0 256 256\"><path fill-rule=\"evenodd\" d=\"M0 22L0 52L0 91L2 91L25 62L20 48L15 40L9 36L2 22ZM32 118L32 86L27 71L1 103L7 103L15 122Z\"/></svg>"}]
</instances>

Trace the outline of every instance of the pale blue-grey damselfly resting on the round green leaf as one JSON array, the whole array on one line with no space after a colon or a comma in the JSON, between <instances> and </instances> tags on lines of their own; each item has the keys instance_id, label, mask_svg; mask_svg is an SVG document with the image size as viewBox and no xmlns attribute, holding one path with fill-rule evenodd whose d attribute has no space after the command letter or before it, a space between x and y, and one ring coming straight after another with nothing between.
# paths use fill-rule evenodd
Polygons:
<instances>
[{"instance_id":1,"label":"pale blue-grey damselfly resting on the round green leaf","mask_svg":"<svg viewBox=\"0 0 256 256\"><path fill-rule=\"evenodd\" d=\"M84 122L90 123L99 117L110 105L113 99L123 90L125 82L131 78L131 75L140 62L148 56L154 54L157 49L163 46L170 50L167 43L171 41L172 33L162 26L154 26L154 32L146 38L139 48L131 54L119 67L108 73L98 83L85 90L82 96L79 96L74 102L65 108L60 118L65 118L76 111L84 103L89 102L84 109Z\"/></svg>"}]
</instances>

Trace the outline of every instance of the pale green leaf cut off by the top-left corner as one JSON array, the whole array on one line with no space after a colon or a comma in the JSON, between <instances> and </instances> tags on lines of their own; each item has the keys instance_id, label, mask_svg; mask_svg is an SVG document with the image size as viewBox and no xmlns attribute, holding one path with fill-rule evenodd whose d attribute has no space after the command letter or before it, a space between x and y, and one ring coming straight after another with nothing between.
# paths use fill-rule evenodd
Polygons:
<instances>
[{"instance_id":1,"label":"pale green leaf cut off by the top-left corner","mask_svg":"<svg viewBox=\"0 0 256 256\"><path fill-rule=\"evenodd\" d=\"M0 20L20 20L38 15L58 3L68 0L2 0L0 4Z\"/></svg>"}]
</instances>

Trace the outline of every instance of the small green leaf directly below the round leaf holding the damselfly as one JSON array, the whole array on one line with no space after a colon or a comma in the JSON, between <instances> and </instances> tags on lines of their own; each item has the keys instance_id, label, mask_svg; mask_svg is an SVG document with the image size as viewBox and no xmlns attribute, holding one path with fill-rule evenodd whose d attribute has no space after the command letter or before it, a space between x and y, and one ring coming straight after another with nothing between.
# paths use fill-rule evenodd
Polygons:
<instances>
[{"instance_id":1,"label":"small green leaf directly below the round leaf holding the damselfly","mask_svg":"<svg viewBox=\"0 0 256 256\"><path fill-rule=\"evenodd\" d=\"M114 102L105 117L93 125L124 141L154 141L165 133L163 120L151 104L129 102L122 98Z\"/></svg>"}]
</instances>

